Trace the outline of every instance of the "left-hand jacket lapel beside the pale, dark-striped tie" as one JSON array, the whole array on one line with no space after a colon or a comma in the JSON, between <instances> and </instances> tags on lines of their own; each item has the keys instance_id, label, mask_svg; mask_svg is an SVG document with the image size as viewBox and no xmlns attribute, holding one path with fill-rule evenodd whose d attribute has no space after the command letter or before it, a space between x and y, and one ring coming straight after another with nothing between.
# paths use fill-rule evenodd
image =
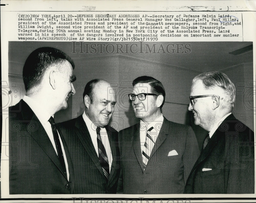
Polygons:
<instances>
[{"instance_id":1,"label":"left-hand jacket lapel beside the pale, dark-striped tie","mask_svg":"<svg viewBox=\"0 0 256 203\"><path fill-rule=\"evenodd\" d=\"M140 164L141 170L144 173L143 170L143 160L142 160L142 154L141 154L141 141L140 141L140 123L138 123L137 125L133 126L134 129L132 129L132 131L134 132L133 134L133 150L135 153L135 156Z\"/></svg>"}]
</instances>

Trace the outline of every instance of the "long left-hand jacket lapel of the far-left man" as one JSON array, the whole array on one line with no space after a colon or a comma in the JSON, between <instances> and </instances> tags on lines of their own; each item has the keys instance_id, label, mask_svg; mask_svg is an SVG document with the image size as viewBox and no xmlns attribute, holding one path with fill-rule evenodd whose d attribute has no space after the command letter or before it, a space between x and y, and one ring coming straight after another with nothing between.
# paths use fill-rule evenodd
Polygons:
<instances>
[{"instance_id":1,"label":"long left-hand jacket lapel of the far-left man","mask_svg":"<svg viewBox=\"0 0 256 203\"><path fill-rule=\"evenodd\" d=\"M34 138L34 140L38 143L38 145L42 148L42 150L44 150L47 156L49 156L52 162L58 167L59 171L62 173L62 170L61 170L62 166L60 164L58 156L41 122L38 120L37 116L34 114L32 109L27 105L25 101L21 100L21 105L23 109L22 115L23 115L24 121L30 121L30 123L28 124L28 128L29 126L31 127L31 130L30 130L31 137ZM37 128L35 128L36 130L33 130L34 125L37 125ZM65 174L63 174L63 176L66 177Z\"/></svg>"}]
</instances>

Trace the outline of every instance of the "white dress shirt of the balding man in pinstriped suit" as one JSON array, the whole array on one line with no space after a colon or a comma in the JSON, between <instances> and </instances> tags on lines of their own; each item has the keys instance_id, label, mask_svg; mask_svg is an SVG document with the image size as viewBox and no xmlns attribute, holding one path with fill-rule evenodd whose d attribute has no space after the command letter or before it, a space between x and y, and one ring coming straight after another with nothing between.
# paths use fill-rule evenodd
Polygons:
<instances>
[{"instance_id":1,"label":"white dress shirt of the balding man in pinstriped suit","mask_svg":"<svg viewBox=\"0 0 256 203\"><path fill-rule=\"evenodd\" d=\"M99 150L98 150L98 142L97 142L97 132L96 132L96 128L97 126L94 125L94 123L87 117L87 115L85 114L85 111L83 112L83 120L88 128L88 131L90 133L91 139L92 139L92 143L94 146L94 149L99 157ZM100 128L100 137L101 137L101 141L104 145L104 148L106 150L107 156L108 156L108 161L109 161L109 172L111 170L111 165L112 165L112 161L113 161L113 157L112 157L112 152L111 152L111 148L110 148L110 144L109 144L109 138L108 138L108 134L106 131L106 128Z\"/></svg>"}]
</instances>

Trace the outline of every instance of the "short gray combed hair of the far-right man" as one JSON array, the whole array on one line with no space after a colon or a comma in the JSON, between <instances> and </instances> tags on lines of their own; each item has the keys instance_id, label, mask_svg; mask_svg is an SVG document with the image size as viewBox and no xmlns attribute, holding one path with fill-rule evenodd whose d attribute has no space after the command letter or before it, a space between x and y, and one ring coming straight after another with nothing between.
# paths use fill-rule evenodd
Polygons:
<instances>
[{"instance_id":1,"label":"short gray combed hair of the far-right man","mask_svg":"<svg viewBox=\"0 0 256 203\"><path fill-rule=\"evenodd\" d=\"M220 87L227 95L227 104L232 104L232 106L234 106L236 87L230 81L226 74L219 71L204 72L197 75L193 79L192 83L194 83L197 80L201 80L206 89Z\"/></svg>"}]
</instances>

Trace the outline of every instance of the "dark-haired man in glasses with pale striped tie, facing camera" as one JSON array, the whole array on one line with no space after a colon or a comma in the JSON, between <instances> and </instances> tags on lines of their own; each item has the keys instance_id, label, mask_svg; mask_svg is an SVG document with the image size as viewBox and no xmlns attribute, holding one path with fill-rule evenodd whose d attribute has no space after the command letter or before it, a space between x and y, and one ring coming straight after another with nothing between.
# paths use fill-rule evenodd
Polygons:
<instances>
[{"instance_id":1,"label":"dark-haired man in glasses with pale striped tie, facing camera","mask_svg":"<svg viewBox=\"0 0 256 203\"><path fill-rule=\"evenodd\" d=\"M162 83L141 76L129 94L140 122L119 132L122 171L118 191L124 194L180 194L199 156L191 127L168 121L161 108Z\"/></svg>"}]
</instances>

